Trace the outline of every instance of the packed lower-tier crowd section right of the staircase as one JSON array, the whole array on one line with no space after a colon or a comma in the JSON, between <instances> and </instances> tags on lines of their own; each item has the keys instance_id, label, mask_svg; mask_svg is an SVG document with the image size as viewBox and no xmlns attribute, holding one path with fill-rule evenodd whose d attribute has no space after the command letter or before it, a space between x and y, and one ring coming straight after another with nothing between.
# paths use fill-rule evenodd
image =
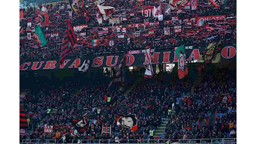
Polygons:
<instances>
[{"instance_id":1,"label":"packed lower-tier crowd section right of the staircase","mask_svg":"<svg viewBox=\"0 0 256 144\"><path fill-rule=\"evenodd\" d=\"M165 130L165 138L186 140L236 137L236 77L235 70L215 69L204 76L189 97L176 95L175 111ZM198 116L210 116L215 111L214 127L198 128Z\"/></svg>"}]
</instances>

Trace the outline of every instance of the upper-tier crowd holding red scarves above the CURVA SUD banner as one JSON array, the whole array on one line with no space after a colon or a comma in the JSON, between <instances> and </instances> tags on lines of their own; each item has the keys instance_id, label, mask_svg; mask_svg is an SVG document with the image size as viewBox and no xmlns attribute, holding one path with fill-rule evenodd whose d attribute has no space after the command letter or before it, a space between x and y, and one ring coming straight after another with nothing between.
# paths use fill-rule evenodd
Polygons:
<instances>
[{"instance_id":1,"label":"upper-tier crowd holding red scarves above the CURVA SUD banner","mask_svg":"<svg viewBox=\"0 0 256 144\"><path fill-rule=\"evenodd\" d=\"M71 20L73 26L88 25L88 28L75 32L78 44L77 47L71 50L70 56L81 56L89 52L105 53L144 49L141 43L146 43L154 49L172 49L181 44L200 47L220 39L223 40L223 43L235 43L236 41L236 2L233 0L227 0L225 5L221 5L220 8L208 4L208 0L198 1L197 10L184 9L181 13L171 12L168 15L164 14L166 4L161 3L162 13L164 14L164 25L161 27L157 18L142 16L142 4L135 1L105 1L105 6L112 6L116 9L112 18L120 18L120 23L114 24L110 23L109 19L102 20L102 23L99 24L96 18L100 17L99 10L92 1L85 2L87 11L91 14L90 19L75 13L72 13L72 17L70 17L69 12L72 10L68 7L67 1L45 6L50 19L49 25L41 25L42 32L47 40L45 47L41 47L37 40L33 38L33 35L31 40L27 39L27 33L31 33L31 30L37 24L35 22L37 17L36 8L41 9L42 6L24 8L24 18L20 20L20 26L23 27L20 34L21 61L59 58L67 20ZM153 6L158 7L159 1L145 1L144 6L144 9ZM205 20L203 27L196 26L196 18L198 17L220 15L225 15L226 18ZM179 20L171 20L173 17L178 17ZM126 20L122 20L123 18L126 18ZM28 27L28 22L32 22L31 27ZM141 25L142 23L145 23L145 25ZM174 27L178 25L181 26L182 30L180 33L175 33ZM108 28L107 34L100 35L98 32L104 31L102 28L106 27ZM117 27L127 28L126 32L123 33L122 29L121 32L117 32ZM209 27L214 29L209 29ZM164 34L165 28L170 30L169 35ZM154 30L154 35L147 35L149 30ZM139 31L141 36L144 34L147 36L135 37L135 32ZM84 32L86 32L86 35L81 36L80 34ZM51 35L47 35L50 33L58 33L58 35L51 37ZM122 34L125 34L124 38L117 38L118 35ZM130 39L127 40L127 38ZM99 39L100 44L97 46L88 44L92 42L92 39ZM111 46L110 41L113 41Z\"/></svg>"}]
</instances>

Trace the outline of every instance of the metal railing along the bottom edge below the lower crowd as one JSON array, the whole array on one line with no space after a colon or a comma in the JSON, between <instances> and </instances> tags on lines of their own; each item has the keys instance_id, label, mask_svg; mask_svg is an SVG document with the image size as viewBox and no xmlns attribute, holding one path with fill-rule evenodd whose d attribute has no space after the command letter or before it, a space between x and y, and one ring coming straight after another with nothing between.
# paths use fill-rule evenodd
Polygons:
<instances>
[{"instance_id":1,"label":"metal railing along the bottom edge below the lower crowd","mask_svg":"<svg viewBox=\"0 0 256 144\"><path fill-rule=\"evenodd\" d=\"M63 143L62 140L22 140L20 144L55 144L55 143ZM205 139L158 139L158 140L72 140L71 143L64 142L65 144L71 144L71 143L80 143L80 144L96 144L96 143L208 143L208 144L215 144L215 143L221 143L221 144L233 144L237 143L237 138L205 138Z\"/></svg>"}]
</instances>

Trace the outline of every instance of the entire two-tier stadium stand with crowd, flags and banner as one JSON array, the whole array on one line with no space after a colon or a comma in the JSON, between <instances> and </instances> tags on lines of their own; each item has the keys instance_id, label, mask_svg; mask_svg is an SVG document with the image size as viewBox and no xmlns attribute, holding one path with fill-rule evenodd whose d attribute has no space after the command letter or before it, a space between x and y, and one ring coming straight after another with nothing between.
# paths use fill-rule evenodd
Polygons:
<instances>
[{"instance_id":1,"label":"entire two-tier stadium stand with crowd, flags and banner","mask_svg":"<svg viewBox=\"0 0 256 144\"><path fill-rule=\"evenodd\" d=\"M20 143L236 143L236 1L20 6Z\"/></svg>"}]
</instances>

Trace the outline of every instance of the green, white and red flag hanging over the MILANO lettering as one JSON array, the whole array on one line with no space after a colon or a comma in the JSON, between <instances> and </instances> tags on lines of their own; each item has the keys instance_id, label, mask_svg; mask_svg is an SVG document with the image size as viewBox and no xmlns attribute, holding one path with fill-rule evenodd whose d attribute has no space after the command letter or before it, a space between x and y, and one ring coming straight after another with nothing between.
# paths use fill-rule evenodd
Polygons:
<instances>
[{"instance_id":1,"label":"green, white and red flag hanging over the MILANO lettering","mask_svg":"<svg viewBox=\"0 0 256 144\"><path fill-rule=\"evenodd\" d=\"M186 54L185 54L185 48L184 45L181 45L180 47L175 49L175 54L178 59L178 75L179 78L184 78L185 75L188 74L188 66L186 63Z\"/></svg>"}]
</instances>

